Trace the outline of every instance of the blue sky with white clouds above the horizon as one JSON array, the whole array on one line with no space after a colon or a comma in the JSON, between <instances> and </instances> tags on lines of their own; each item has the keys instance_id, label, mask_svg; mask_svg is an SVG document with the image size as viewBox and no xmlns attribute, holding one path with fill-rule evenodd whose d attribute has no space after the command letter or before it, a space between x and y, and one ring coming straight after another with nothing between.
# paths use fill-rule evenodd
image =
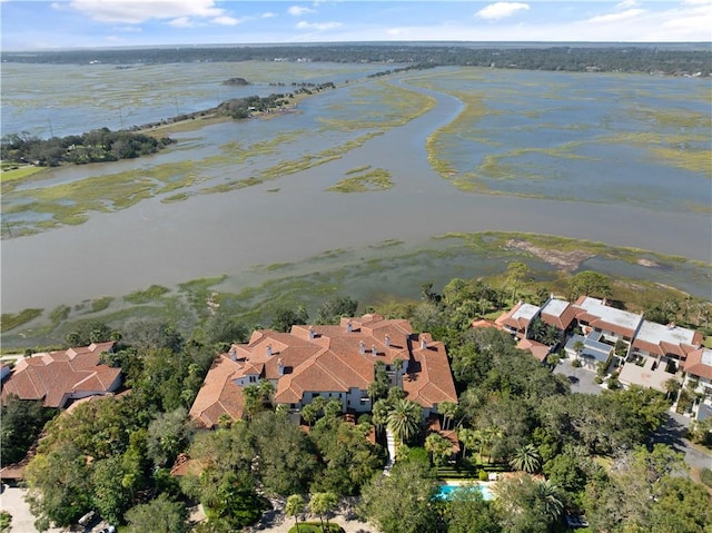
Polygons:
<instances>
[{"instance_id":1,"label":"blue sky with white clouds above the horizon","mask_svg":"<svg viewBox=\"0 0 712 533\"><path fill-rule=\"evenodd\" d=\"M712 40L712 0L0 0L3 50L324 41Z\"/></svg>"}]
</instances>

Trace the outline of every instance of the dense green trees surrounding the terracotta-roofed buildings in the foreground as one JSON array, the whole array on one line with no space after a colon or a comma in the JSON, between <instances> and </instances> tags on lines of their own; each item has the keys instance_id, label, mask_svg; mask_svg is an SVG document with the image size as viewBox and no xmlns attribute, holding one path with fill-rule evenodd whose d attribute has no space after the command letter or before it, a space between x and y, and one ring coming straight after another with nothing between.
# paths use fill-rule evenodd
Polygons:
<instances>
[{"instance_id":1,"label":"dense green trees surrounding the terracotta-roofed buildings in the foreground","mask_svg":"<svg viewBox=\"0 0 712 533\"><path fill-rule=\"evenodd\" d=\"M603 282L581 276L571 288L603 290ZM373 412L358 424L342 418L338 401L320 398L301 409L305 431L275 407L274 385L263 379L244 387L245 420L224 416L217 430L195 432L187 408L215 354L249 332L216 314L188 340L148 319L127 322L120 334L96 322L68 334L68 340L121 338L103 361L121 366L130 393L82 403L44 426L27 468L37 525L70 525L96 510L127 531L180 532L186 505L200 502L208 520L195 531L227 532L254 523L270 500L286 500L295 519L308 509L328 522L339 499L358 496L358 514L382 533L544 533L562 530L567 514L585 514L591 531L610 533L710 529L710 496L685 476L681 457L668 446L642 446L666 417L661 393L572 394L565 378L517 349L508 334L469 327L507 300L545 297L527 292L528 283L513 263L501 288L456 278L442 294L425 284L419 304L369 309L409 318L447 343L458 403L438 411L442 427L455 430L462 443L458 465L485 478L486 470L513 471L494 485L492 501L474 487L437 496L452 444L425 431L419 405L385 365L375 367ZM335 295L316 317L335 324L357 307ZM309 320L303 306L273 308L271 318L281 330ZM6 446L27 445L18 441L23 424L32 432L41 426L36 411L14 401L3 406L3 454ZM389 475L383 473L386 428L400 443ZM706 438L706 427L699 433ZM374 434L380 445L372 443ZM184 453L190 466L178 481L169 470Z\"/></svg>"}]
</instances>

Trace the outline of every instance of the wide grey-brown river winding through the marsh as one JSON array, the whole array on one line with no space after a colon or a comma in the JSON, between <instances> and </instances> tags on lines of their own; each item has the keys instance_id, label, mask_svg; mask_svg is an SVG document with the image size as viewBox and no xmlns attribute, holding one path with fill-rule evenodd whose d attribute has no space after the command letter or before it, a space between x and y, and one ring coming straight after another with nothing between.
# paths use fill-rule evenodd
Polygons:
<instances>
[{"instance_id":1,"label":"wide grey-brown river winding through the marsh","mask_svg":"<svg viewBox=\"0 0 712 533\"><path fill-rule=\"evenodd\" d=\"M547 76L555 79L556 73ZM151 284L237 275L254 265L295 261L386 239L426 243L448 231L553 234L710 261L712 225L705 211L456 189L431 168L425 139L449 124L463 102L409 85L407 79L394 81L400 82L435 98L435 107L340 159L253 187L171 204L152 198L117 213L92 214L79 226L3 240L2 312L49 309L128 294ZM299 106L300 113L219 124L179 137L229 142L249 135L250 129L254 134L255 128L303 128L310 117L324 113L325 106L348 95L339 88L306 100ZM112 165L107 165L107 174ZM369 194L325 190L349 169L364 165L388 170L394 187ZM236 167L234 171L239 175L241 170ZM61 179L62 174L57 176ZM712 195L709 184L705 187ZM710 197L702 195L700 201L709 206Z\"/></svg>"}]
</instances>

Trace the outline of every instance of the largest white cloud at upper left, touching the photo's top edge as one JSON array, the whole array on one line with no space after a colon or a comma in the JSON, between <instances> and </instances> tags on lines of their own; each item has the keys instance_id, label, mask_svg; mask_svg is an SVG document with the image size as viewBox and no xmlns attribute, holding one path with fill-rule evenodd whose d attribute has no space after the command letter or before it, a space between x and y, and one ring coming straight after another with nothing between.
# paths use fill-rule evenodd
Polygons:
<instances>
[{"instance_id":1,"label":"largest white cloud at upper left, touching the photo's top edge","mask_svg":"<svg viewBox=\"0 0 712 533\"><path fill-rule=\"evenodd\" d=\"M70 6L100 22L137 24L150 19L222 17L215 0L72 0Z\"/></svg>"}]
</instances>

